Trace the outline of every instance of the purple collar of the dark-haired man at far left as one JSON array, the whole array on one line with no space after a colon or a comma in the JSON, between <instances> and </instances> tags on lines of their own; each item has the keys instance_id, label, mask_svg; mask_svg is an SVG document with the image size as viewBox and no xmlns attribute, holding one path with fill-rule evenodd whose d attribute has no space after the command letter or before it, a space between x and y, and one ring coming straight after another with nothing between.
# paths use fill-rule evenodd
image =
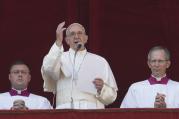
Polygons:
<instances>
[{"instance_id":1,"label":"purple collar of the dark-haired man at far left","mask_svg":"<svg viewBox=\"0 0 179 119\"><path fill-rule=\"evenodd\" d=\"M9 91L11 96L25 96L25 97L29 97L30 93L28 92L27 89L25 90L16 90L16 89L11 89Z\"/></svg>"}]
</instances>

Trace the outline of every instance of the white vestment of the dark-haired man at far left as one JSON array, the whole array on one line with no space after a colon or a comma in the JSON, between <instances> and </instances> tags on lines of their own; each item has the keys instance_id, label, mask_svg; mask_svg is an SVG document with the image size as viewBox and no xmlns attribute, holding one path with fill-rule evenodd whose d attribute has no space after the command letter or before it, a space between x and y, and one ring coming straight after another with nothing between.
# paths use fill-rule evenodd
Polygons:
<instances>
[{"instance_id":1,"label":"white vestment of the dark-haired man at far left","mask_svg":"<svg viewBox=\"0 0 179 119\"><path fill-rule=\"evenodd\" d=\"M28 109L52 109L50 102L47 98L38 96L30 93L28 97L26 96L11 96L9 92L0 94L0 109L9 110L13 106L15 100L24 100L26 107Z\"/></svg>"}]
</instances>

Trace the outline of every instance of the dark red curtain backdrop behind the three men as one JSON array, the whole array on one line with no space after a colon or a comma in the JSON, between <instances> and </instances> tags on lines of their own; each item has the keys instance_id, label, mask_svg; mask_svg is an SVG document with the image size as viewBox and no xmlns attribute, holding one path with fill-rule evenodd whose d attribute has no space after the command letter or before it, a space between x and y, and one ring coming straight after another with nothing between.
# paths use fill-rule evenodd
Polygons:
<instances>
[{"instance_id":1,"label":"dark red curtain backdrop behind the three men","mask_svg":"<svg viewBox=\"0 0 179 119\"><path fill-rule=\"evenodd\" d=\"M171 51L168 74L179 81L178 13L178 0L0 0L0 92L9 90L9 65L22 59L32 70L29 89L52 101L40 68L62 21L83 24L89 51L109 62L119 87L109 107L119 107L130 84L149 77L147 53L155 45Z\"/></svg>"}]
</instances>

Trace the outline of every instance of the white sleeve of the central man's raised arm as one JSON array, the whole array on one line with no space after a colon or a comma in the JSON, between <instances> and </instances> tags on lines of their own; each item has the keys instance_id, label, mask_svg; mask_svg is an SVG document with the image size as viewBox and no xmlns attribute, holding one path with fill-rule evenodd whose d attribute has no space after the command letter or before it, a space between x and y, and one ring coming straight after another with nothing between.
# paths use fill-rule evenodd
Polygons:
<instances>
[{"instance_id":1,"label":"white sleeve of the central man's raised arm","mask_svg":"<svg viewBox=\"0 0 179 119\"><path fill-rule=\"evenodd\" d=\"M58 47L56 43L53 44L49 53L44 57L41 73L44 80L44 91L56 91L56 81L60 76L60 57L63 53L63 46Z\"/></svg>"}]
</instances>

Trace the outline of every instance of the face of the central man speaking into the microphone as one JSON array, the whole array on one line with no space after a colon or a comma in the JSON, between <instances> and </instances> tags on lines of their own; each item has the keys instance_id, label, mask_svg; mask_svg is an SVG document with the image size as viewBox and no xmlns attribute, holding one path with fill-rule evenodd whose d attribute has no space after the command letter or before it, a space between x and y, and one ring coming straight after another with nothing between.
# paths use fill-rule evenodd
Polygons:
<instances>
[{"instance_id":1,"label":"face of the central man speaking into the microphone","mask_svg":"<svg viewBox=\"0 0 179 119\"><path fill-rule=\"evenodd\" d=\"M87 43L87 40L88 36L85 34L85 31L80 25L75 24L70 27L69 34L66 36L66 42L70 46L70 48L76 50L78 43L85 45Z\"/></svg>"}]
</instances>

